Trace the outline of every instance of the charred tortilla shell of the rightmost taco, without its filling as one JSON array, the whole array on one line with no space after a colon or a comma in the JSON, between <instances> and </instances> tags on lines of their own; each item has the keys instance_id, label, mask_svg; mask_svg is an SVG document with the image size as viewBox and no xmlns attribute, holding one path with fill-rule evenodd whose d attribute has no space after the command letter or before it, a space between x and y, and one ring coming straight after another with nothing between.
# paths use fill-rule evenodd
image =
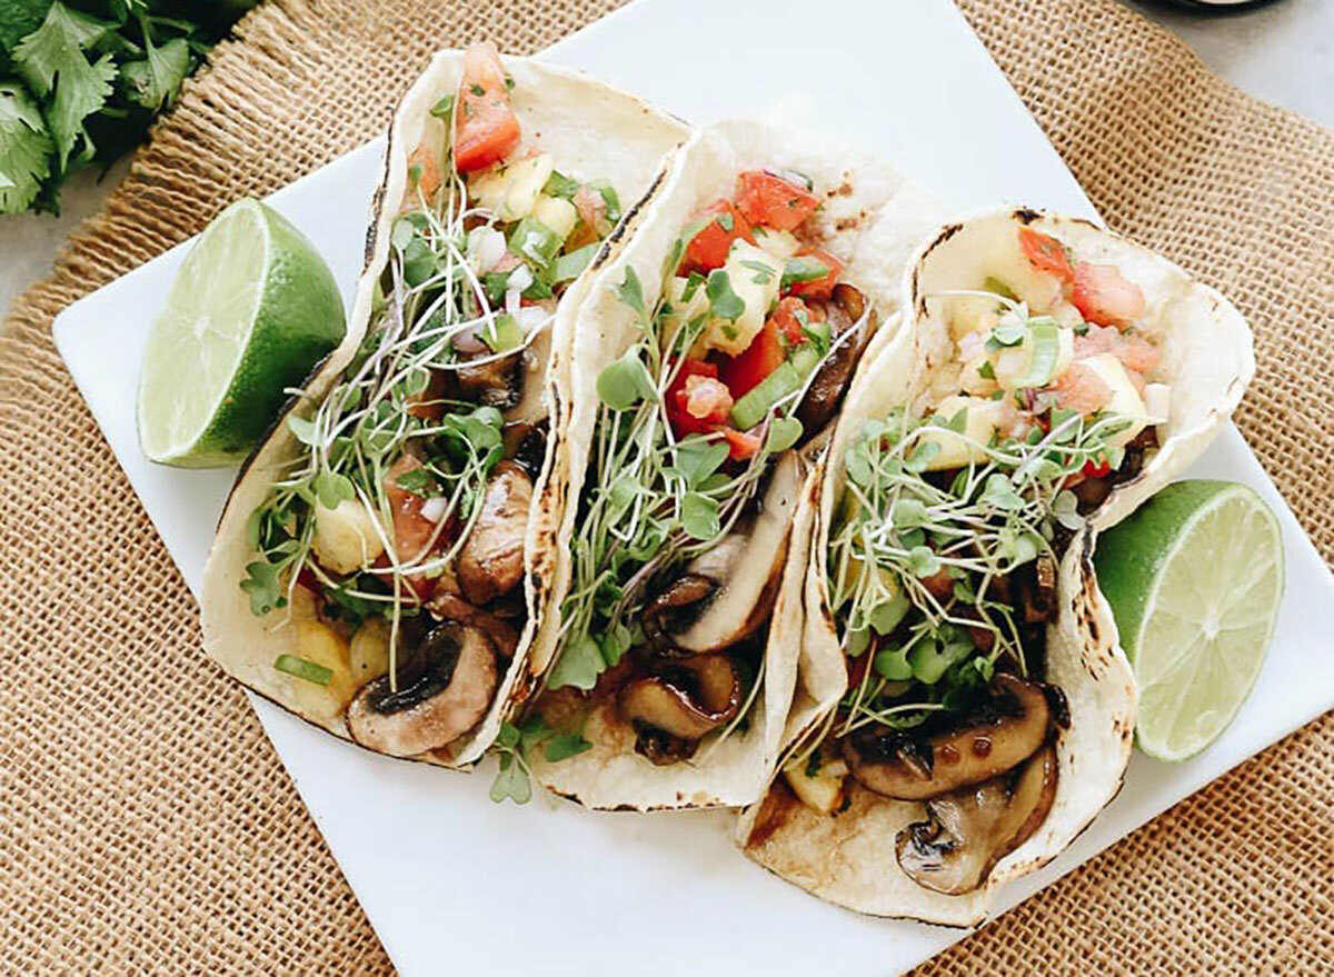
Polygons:
<instances>
[{"instance_id":1,"label":"charred tortilla shell of the rightmost taco, without its filling","mask_svg":"<svg viewBox=\"0 0 1334 977\"><path fill-rule=\"evenodd\" d=\"M1097 533L1125 518L1203 451L1254 372L1250 331L1226 299L1163 258L1087 222L1007 210L939 230L906 272L907 326L867 364L850 392L816 474L823 484L804 589L799 687L818 706L806 713L804 725L790 723L791 742L816 729L847 689L826 583L830 522L844 483L846 448L864 419L918 399L932 384L940 384L942 391L950 387L956 364L946 355L950 347L943 342L947 334L938 300L928 302L928 296L980 288L986 276L998 271L995 255L1007 244L1013 247L1023 224L1061 239L1073 260L1115 264L1143 288L1146 331L1158 339L1163 354L1151 379L1173 387L1170 418L1158 430L1159 451L1089 515L1061 562L1059 617L1047 633L1047 681L1066 694L1070 727L1057 737L1057 797L1038 832L1002 858L982 888L944 896L908 878L895 857L895 836L926 820L923 806L880 797L851 778L851 806L838 817L784 798L782 787L771 789L767 809L755 805L742 814L738 842L747 856L812 894L862 913L954 926L978 924L998 886L1059 854L1117 795L1130 759L1137 693L1111 610L1098 590L1091 563Z\"/></svg>"}]
</instances>

